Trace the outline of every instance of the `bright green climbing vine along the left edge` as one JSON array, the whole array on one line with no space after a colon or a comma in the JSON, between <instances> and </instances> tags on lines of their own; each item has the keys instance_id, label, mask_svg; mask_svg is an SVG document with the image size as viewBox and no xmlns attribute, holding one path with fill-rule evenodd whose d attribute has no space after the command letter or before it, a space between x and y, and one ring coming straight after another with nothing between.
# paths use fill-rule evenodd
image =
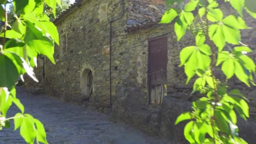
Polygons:
<instances>
[{"instance_id":1,"label":"bright green climbing vine along the left edge","mask_svg":"<svg viewBox=\"0 0 256 144\"><path fill-rule=\"evenodd\" d=\"M0 31L0 130L14 121L14 130L29 144L48 143L43 124L32 115L25 114L23 104L16 97L15 83L27 73L38 81L33 72L37 67L37 55L47 56L54 62L54 43L59 45L56 26L45 14L44 4L56 15L56 5L61 0L0 0L0 20L4 22ZM13 25L8 24L6 5L13 5L15 17ZM20 112L6 117L8 109L15 104Z\"/></svg>"}]
</instances>

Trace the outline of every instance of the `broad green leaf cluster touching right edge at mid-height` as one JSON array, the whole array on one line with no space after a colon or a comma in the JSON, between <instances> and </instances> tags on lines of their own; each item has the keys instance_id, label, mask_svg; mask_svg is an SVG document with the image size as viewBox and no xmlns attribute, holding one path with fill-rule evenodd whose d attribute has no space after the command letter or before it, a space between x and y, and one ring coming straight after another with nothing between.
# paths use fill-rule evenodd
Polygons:
<instances>
[{"instance_id":1,"label":"broad green leaf cluster touching right edge at mid-height","mask_svg":"<svg viewBox=\"0 0 256 144\"><path fill-rule=\"evenodd\" d=\"M246 85L253 85L253 73L255 73L255 64L251 58L245 54L251 52L251 49L245 46L235 47L232 53L221 51L218 54L216 66L222 63L222 71L227 79L236 75Z\"/></svg>"}]
</instances>

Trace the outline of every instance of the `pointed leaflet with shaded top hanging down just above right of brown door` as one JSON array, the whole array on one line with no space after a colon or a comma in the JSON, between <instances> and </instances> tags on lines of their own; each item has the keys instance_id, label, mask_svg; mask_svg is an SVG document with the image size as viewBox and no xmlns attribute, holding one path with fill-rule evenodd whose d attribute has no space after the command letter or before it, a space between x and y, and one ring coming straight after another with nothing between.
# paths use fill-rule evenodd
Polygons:
<instances>
[{"instance_id":1,"label":"pointed leaflet with shaded top hanging down just above right of brown door","mask_svg":"<svg viewBox=\"0 0 256 144\"><path fill-rule=\"evenodd\" d=\"M180 18L177 18L174 24L174 31L177 35L177 40L179 41L181 37L186 34L187 24L185 21L182 21Z\"/></svg>"}]
</instances>

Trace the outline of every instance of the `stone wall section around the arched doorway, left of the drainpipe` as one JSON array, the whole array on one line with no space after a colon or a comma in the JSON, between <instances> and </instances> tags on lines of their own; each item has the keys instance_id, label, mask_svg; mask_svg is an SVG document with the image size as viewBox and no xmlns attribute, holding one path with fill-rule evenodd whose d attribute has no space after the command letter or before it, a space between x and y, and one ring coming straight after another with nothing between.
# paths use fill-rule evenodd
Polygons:
<instances>
[{"instance_id":1,"label":"stone wall section around the arched doorway, left of the drainpipe","mask_svg":"<svg viewBox=\"0 0 256 144\"><path fill-rule=\"evenodd\" d=\"M107 19L99 21L99 6L107 3ZM83 102L80 88L81 72L89 68L93 73L93 94L90 101L107 107L109 104L109 19L123 16L120 0L84 0L81 6L56 24L59 35L67 34L67 52L60 56L60 47L55 48L56 64L46 61L45 89L53 96L66 101ZM125 25L125 16L113 23L117 31ZM115 88L113 86L113 88ZM115 91L113 89L113 91ZM103 109L102 109L103 110ZM104 109L106 112L107 109Z\"/></svg>"}]
</instances>

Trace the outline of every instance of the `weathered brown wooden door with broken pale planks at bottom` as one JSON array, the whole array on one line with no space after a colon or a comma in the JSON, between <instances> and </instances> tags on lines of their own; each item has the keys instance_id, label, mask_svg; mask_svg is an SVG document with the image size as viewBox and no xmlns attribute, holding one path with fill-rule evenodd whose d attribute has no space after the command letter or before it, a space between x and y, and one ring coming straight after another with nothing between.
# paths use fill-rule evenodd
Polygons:
<instances>
[{"instance_id":1,"label":"weathered brown wooden door with broken pale planks at bottom","mask_svg":"<svg viewBox=\"0 0 256 144\"><path fill-rule=\"evenodd\" d=\"M168 39L150 39L148 55L149 104L161 104L166 95Z\"/></svg>"}]
</instances>

